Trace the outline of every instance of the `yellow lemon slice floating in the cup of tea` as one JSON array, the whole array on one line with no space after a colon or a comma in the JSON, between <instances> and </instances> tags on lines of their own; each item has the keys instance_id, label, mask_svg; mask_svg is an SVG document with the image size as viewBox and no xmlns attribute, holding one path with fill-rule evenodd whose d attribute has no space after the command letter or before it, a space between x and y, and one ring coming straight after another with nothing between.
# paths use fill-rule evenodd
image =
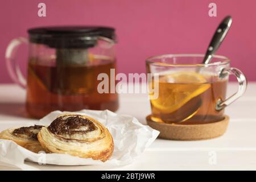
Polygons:
<instances>
[{"instance_id":1,"label":"yellow lemon slice floating in the cup of tea","mask_svg":"<svg viewBox=\"0 0 256 182\"><path fill-rule=\"evenodd\" d=\"M204 76L195 72L177 72L159 77L159 96L151 100L161 113L172 113L210 88ZM150 95L151 97L151 95Z\"/></svg>"}]
</instances>

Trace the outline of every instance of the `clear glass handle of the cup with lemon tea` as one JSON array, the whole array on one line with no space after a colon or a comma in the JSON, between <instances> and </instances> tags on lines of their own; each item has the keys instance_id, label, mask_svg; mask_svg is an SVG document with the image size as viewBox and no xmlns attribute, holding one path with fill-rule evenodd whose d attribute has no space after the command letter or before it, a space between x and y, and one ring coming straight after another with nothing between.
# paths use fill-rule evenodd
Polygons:
<instances>
[{"instance_id":1,"label":"clear glass handle of the cup with lemon tea","mask_svg":"<svg viewBox=\"0 0 256 182\"><path fill-rule=\"evenodd\" d=\"M247 81L246 81L245 75L243 75L243 73L237 68L224 68L221 70L219 77L223 78L228 75L234 75L237 77L237 81L239 84L238 90L236 93L234 93L232 96L230 96L224 101L219 99L216 104L216 110L224 109L226 106L229 106L230 104L232 104L232 102L240 98L243 95L243 93L245 93L245 90L247 87Z\"/></svg>"}]
</instances>

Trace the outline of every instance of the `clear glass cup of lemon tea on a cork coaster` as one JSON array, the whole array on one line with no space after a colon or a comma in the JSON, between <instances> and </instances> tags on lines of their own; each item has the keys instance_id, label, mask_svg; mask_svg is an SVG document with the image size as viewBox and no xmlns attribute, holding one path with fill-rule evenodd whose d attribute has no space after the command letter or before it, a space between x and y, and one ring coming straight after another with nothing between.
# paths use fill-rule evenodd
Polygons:
<instances>
[{"instance_id":1,"label":"clear glass cup of lemon tea on a cork coaster","mask_svg":"<svg viewBox=\"0 0 256 182\"><path fill-rule=\"evenodd\" d=\"M246 77L239 69L230 67L227 57L216 55L209 64L201 64L203 57L161 55L146 60L147 73L152 74L152 121L184 125L221 121L224 108L245 93ZM226 98L229 75L237 77L239 88Z\"/></svg>"}]
</instances>

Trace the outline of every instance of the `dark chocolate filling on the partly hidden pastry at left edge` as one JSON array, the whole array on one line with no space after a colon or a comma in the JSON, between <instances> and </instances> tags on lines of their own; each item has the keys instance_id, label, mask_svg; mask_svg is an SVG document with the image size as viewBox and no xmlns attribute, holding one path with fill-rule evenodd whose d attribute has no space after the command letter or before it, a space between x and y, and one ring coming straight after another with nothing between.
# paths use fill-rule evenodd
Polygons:
<instances>
[{"instance_id":1,"label":"dark chocolate filling on the partly hidden pastry at left edge","mask_svg":"<svg viewBox=\"0 0 256 182\"><path fill-rule=\"evenodd\" d=\"M18 129L15 129L13 131L13 135L19 136L19 135L26 135L29 139L32 140L38 140L37 135L40 129L42 129L43 126L40 125L34 125L29 127L19 127Z\"/></svg>"}]
</instances>

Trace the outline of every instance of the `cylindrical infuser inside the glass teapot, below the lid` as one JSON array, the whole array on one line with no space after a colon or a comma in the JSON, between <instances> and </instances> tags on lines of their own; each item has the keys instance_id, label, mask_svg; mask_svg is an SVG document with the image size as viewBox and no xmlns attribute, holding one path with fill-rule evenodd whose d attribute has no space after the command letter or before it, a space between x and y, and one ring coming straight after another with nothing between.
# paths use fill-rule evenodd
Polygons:
<instances>
[{"instance_id":1,"label":"cylindrical infuser inside the glass teapot, below the lid","mask_svg":"<svg viewBox=\"0 0 256 182\"><path fill-rule=\"evenodd\" d=\"M93 68L88 49L71 48L56 50L56 81L53 92L58 94L85 94L94 87ZM54 78L53 78L54 79Z\"/></svg>"}]
</instances>

